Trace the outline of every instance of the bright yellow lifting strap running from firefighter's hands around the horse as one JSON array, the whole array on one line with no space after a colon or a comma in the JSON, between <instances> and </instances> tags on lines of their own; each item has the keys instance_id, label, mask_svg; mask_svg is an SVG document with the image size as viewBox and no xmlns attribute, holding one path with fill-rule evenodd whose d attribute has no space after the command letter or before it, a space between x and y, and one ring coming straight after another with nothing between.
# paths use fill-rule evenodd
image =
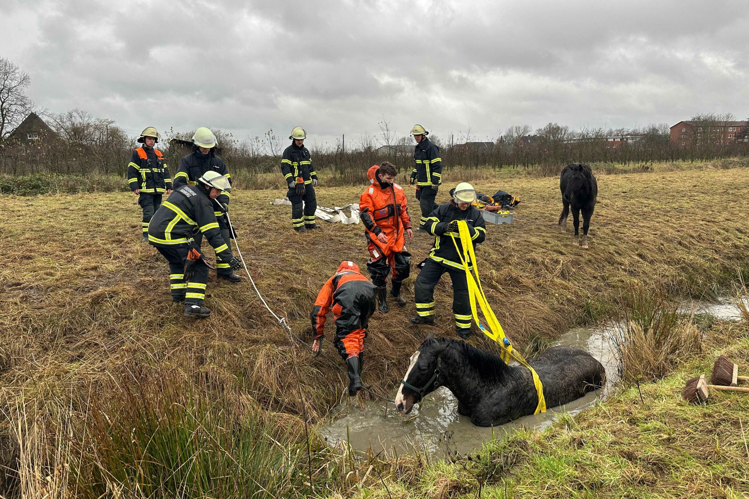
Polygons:
<instances>
[{"instance_id":1,"label":"bright yellow lifting strap running from firefighter's hands around the horse","mask_svg":"<svg viewBox=\"0 0 749 499\"><path fill-rule=\"evenodd\" d=\"M486 295L484 294L484 290L481 286L481 279L479 279L479 266L476 264L476 253L473 251L473 241L471 240L470 231L468 230L468 224L465 220L458 220L458 234L461 239L463 251L458 248L458 242L455 241L455 234L451 233L450 237L452 237L452 244L455 245L455 249L458 251L458 256L460 257L461 263L463 264L463 269L466 272L466 280L468 281L468 295L470 296L470 310L473 314L473 320L475 320L476 324L479 325L479 328L484 331L484 334L486 334L488 337L490 337L500 345L500 349L502 351L500 353L500 358L502 358L505 363L508 363L510 358L514 358L516 361L530 370L530 373L533 376L533 384L536 385L536 393L539 396L539 405L536 405L536 412L534 414L539 414L539 412L546 412L544 385L542 385L541 379L539 379L539 375L536 374L536 370L534 370L533 367L530 367L527 361L523 358L523 355L512 348L512 343L510 343L509 338L506 337L505 331L503 330L500 321L497 320L497 316L494 315L494 310L491 310L491 306L486 299ZM476 273L476 279L473 278L473 274L470 272L470 268L468 266L469 261L473 264L473 272ZM491 332L487 331L486 328L482 325L481 321L479 321L479 314L476 309L476 301L479 302L479 307L481 307L481 312L484 315L484 318L486 319Z\"/></svg>"}]
</instances>

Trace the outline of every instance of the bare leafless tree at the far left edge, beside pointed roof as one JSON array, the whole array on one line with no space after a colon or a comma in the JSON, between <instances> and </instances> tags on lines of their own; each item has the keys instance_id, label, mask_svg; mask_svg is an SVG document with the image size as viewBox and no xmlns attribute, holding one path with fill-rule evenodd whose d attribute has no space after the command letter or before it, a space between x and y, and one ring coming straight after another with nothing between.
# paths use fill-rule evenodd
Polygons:
<instances>
[{"instance_id":1,"label":"bare leafless tree at the far left edge, beside pointed roof","mask_svg":"<svg viewBox=\"0 0 749 499\"><path fill-rule=\"evenodd\" d=\"M7 137L34 108L26 94L31 76L13 61L0 58L0 139Z\"/></svg>"}]
</instances>

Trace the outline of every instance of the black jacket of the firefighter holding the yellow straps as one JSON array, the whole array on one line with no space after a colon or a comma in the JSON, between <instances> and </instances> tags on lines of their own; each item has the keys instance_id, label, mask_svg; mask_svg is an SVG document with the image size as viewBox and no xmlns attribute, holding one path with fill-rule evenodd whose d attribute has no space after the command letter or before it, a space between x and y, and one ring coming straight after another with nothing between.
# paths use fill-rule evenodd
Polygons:
<instances>
[{"instance_id":1,"label":"black jacket of the firefighter holding the yellow straps","mask_svg":"<svg viewBox=\"0 0 749 499\"><path fill-rule=\"evenodd\" d=\"M484 242L484 239L486 239L486 224L484 217L482 217L481 212L476 206L469 206L468 209L461 210L452 201L437 206L437 209L431 212L431 215L426 219L424 224L426 230L435 236L434 246L429 251L429 258L446 266L463 269L461 257L458 256L458 250L455 249L455 244L452 242L451 237L455 236L455 242L458 243L458 249L461 251L460 255L462 255L463 245L460 234L457 232L445 232L447 224L453 220L467 221L474 250L477 244ZM468 267L473 268L473 262L469 262Z\"/></svg>"}]
</instances>

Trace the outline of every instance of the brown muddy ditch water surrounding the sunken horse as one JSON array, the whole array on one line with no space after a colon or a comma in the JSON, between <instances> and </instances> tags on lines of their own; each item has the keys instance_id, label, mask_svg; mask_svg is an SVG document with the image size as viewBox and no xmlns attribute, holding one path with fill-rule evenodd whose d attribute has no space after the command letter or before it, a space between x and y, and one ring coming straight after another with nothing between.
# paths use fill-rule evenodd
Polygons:
<instances>
[{"instance_id":1,"label":"brown muddy ditch water surrounding the sunken horse","mask_svg":"<svg viewBox=\"0 0 749 499\"><path fill-rule=\"evenodd\" d=\"M364 408L357 405L339 408L337 419L326 426L322 434L331 445L348 441L354 449L372 447L375 453L385 450L398 453L419 450L431 456L450 452L468 453L481 447L482 442L500 438L520 427L543 429L562 413L577 414L605 397L618 379L616 346L613 336L616 328L577 328L564 334L557 345L576 346L586 350L603 364L607 382L603 389L590 392L585 397L567 405L549 409L544 414L521 417L511 423L494 428L482 428L471 423L470 418L458 414L458 401L447 388L440 387L425 397L421 407L416 405L407 416L401 416L388 402L370 401ZM417 409L418 408L418 409Z\"/></svg>"}]
</instances>

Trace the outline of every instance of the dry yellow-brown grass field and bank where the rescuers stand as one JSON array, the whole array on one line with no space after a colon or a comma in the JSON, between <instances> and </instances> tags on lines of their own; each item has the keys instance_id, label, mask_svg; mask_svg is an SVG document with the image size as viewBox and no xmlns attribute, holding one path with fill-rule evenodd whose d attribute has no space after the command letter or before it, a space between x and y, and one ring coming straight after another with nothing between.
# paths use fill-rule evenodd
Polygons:
<instances>
[{"instance_id":1,"label":"dry yellow-brown grass field and bank where the rescuers stand","mask_svg":"<svg viewBox=\"0 0 749 499\"><path fill-rule=\"evenodd\" d=\"M557 227L557 178L500 182L491 171L461 175L446 174L437 201L445 201L449 186L461 180L480 192L501 188L522 200L515 223L488 224L477 254L500 322L528 353L573 325L616 316L628 282L658 283L673 296L714 298L737 271L749 269L749 170L743 168L598 175L587 250ZM321 182L318 203L357 202L363 189ZM413 189L406 191L410 195ZM237 191L230 215L261 293L306 339L319 288L341 260L365 269L366 243L361 225L321 222L321 230L294 233L290 206L269 203L282 195ZM418 220L412 201L410 213ZM266 414L257 416L261 419L272 414L270 427L282 425L297 436L303 411L314 423L342 397L348 380L333 367L342 363L331 343L332 328L324 354L312 358L274 324L246 279L232 285L212 278L206 306L213 315L200 322L184 318L169 296L166 262L140 242L136 196L2 196L0 213L0 380L8 416L1 441L10 468L19 459L12 438L17 432L9 426L18 420L19 400L43 412L52 397L72 411L70 400L99 399L106 405L125 397L123 386L133 379L148 379L144 383L151 386L154 378L181 376L207 391L230 387L241 397L241 403L236 397L231 402L237 411L252 407ZM415 234L408 245L414 262L425 257L431 242L425 233ZM413 277L404 287L410 301ZM434 331L453 335L449 281L440 283L435 299ZM392 397L407 358L429 331L408 324L413 313L411 302L403 309L393 305L370 322L363 379L377 394ZM470 341L491 349L487 338ZM11 475L5 486L17 486Z\"/></svg>"}]
</instances>

